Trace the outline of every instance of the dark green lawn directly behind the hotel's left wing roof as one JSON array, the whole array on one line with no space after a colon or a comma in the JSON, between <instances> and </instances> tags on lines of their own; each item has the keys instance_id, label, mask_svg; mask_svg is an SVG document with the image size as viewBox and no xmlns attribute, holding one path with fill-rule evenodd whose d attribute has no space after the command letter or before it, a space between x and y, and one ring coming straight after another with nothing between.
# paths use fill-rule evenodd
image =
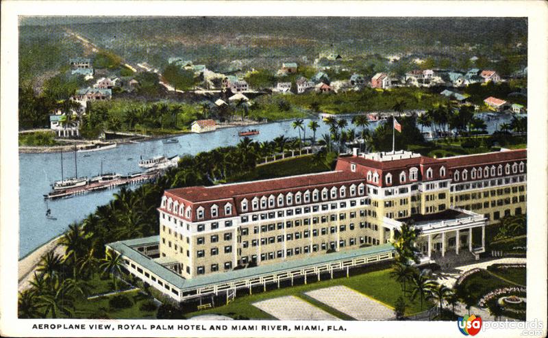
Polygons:
<instances>
[{"instance_id":1,"label":"dark green lawn directly behind the hotel's left wing roof","mask_svg":"<svg viewBox=\"0 0 548 338\"><path fill-rule=\"evenodd\" d=\"M327 171L329 168L323 164L314 164L312 155L284 159L264 166L258 166L249 172L245 172L227 180L230 182L254 181L258 179L273 179L275 177L309 174Z\"/></svg>"}]
</instances>

